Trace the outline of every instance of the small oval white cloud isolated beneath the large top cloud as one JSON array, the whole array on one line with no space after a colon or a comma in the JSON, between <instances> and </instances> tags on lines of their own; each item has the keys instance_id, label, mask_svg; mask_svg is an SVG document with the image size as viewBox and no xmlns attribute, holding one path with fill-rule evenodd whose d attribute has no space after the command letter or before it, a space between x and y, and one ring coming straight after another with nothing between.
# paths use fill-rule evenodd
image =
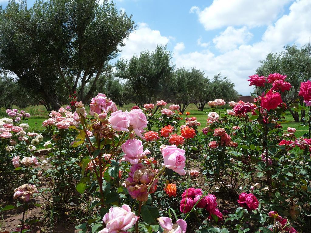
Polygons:
<instances>
[{"instance_id":1,"label":"small oval white cloud isolated beneath the large top cloud","mask_svg":"<svg viewBox=\"0 0 311 233\"><path fill-rule=\"evenodd\" d=\"M229 26L213 39L213 43L221 52L226 52L237 48L238 45L245 44L252 37L253 34L247 30L246 26L239 29Z\"/></svg>"}]
</instances>

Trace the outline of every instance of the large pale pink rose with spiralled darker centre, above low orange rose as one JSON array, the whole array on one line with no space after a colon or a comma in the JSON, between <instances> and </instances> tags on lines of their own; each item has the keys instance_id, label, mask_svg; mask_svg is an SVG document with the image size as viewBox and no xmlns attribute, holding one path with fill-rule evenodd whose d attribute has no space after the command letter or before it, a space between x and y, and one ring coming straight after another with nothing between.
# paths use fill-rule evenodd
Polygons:
<instances>
[{"instance_id":1,"label":"large pale pink rose with spiralled darker centre, above low orange rose","mask_svg":"<svg viewBox=\"0 0 311 233\"><path fill-rule=\"evenodd\" d=\"M179 175L185 175L186 157L185 150L178 148L176 145L166 146L162 149L165 167L172 169Z\"/></svg>"}]
</instances>

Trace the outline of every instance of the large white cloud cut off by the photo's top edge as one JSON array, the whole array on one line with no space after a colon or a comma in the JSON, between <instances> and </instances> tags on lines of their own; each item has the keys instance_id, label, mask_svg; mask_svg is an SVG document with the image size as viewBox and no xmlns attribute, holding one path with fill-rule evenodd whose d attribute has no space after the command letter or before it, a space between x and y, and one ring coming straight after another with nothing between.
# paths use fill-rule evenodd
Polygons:
<instances>
[{"instance_id":1,"label":"large white cloud cut off by the photo's top edge","mask_svg":"<svg viewBox=\"0 0 311 233\"><path fill-rule=\"evenodd\" d=\"M190 9L196 13L205 30L224 26L268 25L275 21L283 7L292 0L214 0L202 11L197 6Z\"/></svg>"}]
</instances>

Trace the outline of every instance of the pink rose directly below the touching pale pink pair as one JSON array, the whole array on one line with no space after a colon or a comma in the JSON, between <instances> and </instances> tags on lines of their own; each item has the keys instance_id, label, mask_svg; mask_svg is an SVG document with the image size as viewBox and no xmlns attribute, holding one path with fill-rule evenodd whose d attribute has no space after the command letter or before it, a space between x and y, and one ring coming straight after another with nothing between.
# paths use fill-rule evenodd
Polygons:
<instances>
[{"instance_id":1,"label":"pink rose directly below the touching pale pink pair","mask_svg":"<svg viewBox=\"0 0 311 233\"><path fill-rule=\"evenodd\" d=\"M125 161L129 161L131 164L138 163L139 158L142 158L143 146L141 140L128 139L121 145L121 148L125 153Z\"/></svg>"}]
</instances>

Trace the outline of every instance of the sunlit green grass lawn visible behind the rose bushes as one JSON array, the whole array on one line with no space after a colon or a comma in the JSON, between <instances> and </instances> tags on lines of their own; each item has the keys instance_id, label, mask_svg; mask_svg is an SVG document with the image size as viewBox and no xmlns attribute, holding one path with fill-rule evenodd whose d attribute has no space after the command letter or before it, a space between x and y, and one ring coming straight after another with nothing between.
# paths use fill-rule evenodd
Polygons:
<instances>
[{"instance_id":1,"label":"sunlit green grass lawn visible behind the rose bushes","mask_svg":"<svg viewBox=\"0 0 311 233\"><path fill-rule=\"evenodd\" d=\"M119 109L125 111L125 110L131 110L132 106L134 104L128 104L128 105L124 105L123 107L118 107ZM169 105L169 104L168 104ZM14 106L13 108L17 108L16 106ZM2 117L7 117L7 113L5 112L6 109L1 108L0 109L0 118ZM30 126L30 130L31 131L35 131L35 130L43 130L43 128L41 127L42 122L44 120L46 120L49 117L49 113L46 111L45 107L43 105L39 105L39 106L29 106L26 107L24 109L25 112L29 112L31 117L28 119L28 121L26 123L29 124ZM86 106L86 110L88 111L88 106ZM205 127L205 123L206 123L206 119L207 119L207 111L210 112L211 108L206 107L204 109L204 111L199 111L197 109L197 107L194 104L190 104L187 107L187 112L190 112L190 117L197 117L197 121L199 121L201 123L201 126L199 127L198 130L202 130ZM185 119L185 115L182 116L183 119ZM287 127L294 127L297 129L295 135L297 137L302 136L303 134L305 134L308 130L308 127L306 126L301 126L301 123L296 123L293 121L293 117L290 115L290 112L286 112L286 116L285 116L285 120L286 121L290 121L288 123L283 123L283 129L286 130ZM185 122L185 120L182 121L182 124Z\"/></svg>"}]
</instances>

